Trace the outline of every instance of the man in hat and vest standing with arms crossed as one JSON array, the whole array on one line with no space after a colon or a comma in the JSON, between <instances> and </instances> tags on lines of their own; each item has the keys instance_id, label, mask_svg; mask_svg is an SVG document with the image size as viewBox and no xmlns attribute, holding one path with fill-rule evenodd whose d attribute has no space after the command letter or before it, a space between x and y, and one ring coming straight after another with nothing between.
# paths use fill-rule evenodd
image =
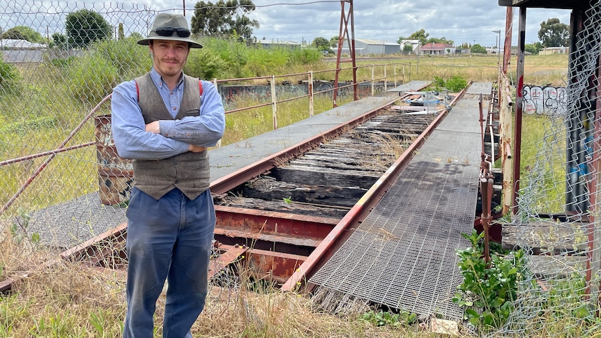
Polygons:
<instances>
[{"instance_id":1,"label":"man in hat and vest standing with arms crossed","mask_svg":"<svg viewBox=\"0 0 601 338\"><path fill-rule=\"evenodd\" d=\"M207 293L215 210L206 147L225 130L221 97L211 82L183 74L190 39L183 15L160 13L148 38L153 68L116 86L112 134L133 160L127 210L127 314L123 337L153 337L153 314L165 279L163 337L192 337Z\"/></svg>"}]
</instances>

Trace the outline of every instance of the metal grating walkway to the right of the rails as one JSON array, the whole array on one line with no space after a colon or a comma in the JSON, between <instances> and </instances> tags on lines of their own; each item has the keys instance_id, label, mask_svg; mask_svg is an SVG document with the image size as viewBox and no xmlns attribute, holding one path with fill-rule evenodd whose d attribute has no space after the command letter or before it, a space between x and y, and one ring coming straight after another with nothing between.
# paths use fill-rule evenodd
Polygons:
<instances>
[{"instance_id":1,"label":"metal grating walkway to the right of the rails","mask_svg":"<svg viewBox=\"0 0 601 338\"><path fill-rule=\"evenodd\" d=\"M478 84L478 89L491 86ZM310 282L361 300L460 321L456 249L469 246L480 173L478 100L463 99ZM487 107L484 105L483 107Z\"/></svg>"}]
</instances>

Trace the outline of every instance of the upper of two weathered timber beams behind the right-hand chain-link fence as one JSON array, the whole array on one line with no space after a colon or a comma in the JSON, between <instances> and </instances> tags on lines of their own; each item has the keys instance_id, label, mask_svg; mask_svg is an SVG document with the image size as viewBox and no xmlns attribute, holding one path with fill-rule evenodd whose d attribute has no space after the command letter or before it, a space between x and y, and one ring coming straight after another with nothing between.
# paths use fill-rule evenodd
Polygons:
<instances>
[{"instance_id":1,"label":"upper of two weathered timber beams behind the right-hand chain-link fence","mask_svg":"<svg viewBox=\"0 0 601 338\"><path fill-rule=\"evenodd\" d=\"M528 247L534 254L577 254L587 249L586 223L551 221L515 225L503 224L505 249Z\"/></svg>"}]
</instances>

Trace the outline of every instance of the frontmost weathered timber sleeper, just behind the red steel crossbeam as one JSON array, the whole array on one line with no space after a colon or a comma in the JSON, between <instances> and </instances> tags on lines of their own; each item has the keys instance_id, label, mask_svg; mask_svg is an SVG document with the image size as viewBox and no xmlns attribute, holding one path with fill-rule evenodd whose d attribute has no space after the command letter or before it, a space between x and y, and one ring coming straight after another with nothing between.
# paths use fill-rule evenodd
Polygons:
<instances>
[{"instance_id":1,"label":"frontmost weathered timber sleeper, just behind the red steel crossbeam","mask_svg":"<svg viewBox=\"0 0 601 338\"><path fill-rule=\"evenodd\" d=\"M244 197L220 197L215 199L215 203L220 206L233 206L236 208L247 208L254 210L277 211L280 213L294 213L298 215L330 217L337 220L342 220L344 215L347 215L346 208L328 208L322 206L312 206L302 203L286 203L281 201L265 201L263 199L252 199Z\"/></svg>"}]
</instances>

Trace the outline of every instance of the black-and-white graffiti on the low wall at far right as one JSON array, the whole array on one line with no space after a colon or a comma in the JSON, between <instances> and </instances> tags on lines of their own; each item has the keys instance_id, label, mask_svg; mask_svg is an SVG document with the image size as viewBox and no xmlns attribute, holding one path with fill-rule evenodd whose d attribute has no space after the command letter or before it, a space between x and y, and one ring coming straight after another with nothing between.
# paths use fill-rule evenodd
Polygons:
<instances>
[{"instance_id":1,"label":"black-and-white graffiti on the low wall at far right","mask_svg":"<svg viewBox=\"0 0 601 338\"><path fill-rule=\"evenodd\" d=\"M524 112L526 114L564 114L567 95L565 88L524 85Z\"/></svg>"}]
</instances>

